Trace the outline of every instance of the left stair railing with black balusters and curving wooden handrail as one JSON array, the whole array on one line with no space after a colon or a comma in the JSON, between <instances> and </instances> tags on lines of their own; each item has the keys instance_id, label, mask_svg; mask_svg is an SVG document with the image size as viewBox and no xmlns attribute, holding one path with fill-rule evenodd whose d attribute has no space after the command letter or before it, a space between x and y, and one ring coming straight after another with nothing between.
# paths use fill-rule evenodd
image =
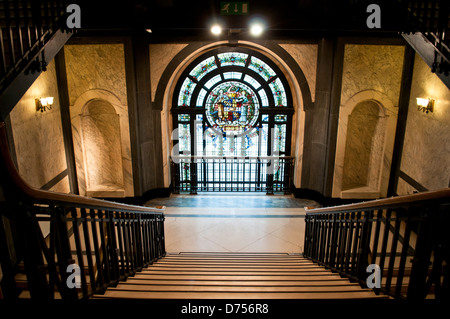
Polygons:
<instances>
[{"instance_id":1,"label":"left stair railing with black balusters and curving wooden handrail","mask_svg":"<svg viewBox=\"0 0 450 319\"><path fill-rule=\"evenodd\" d=\"M0 123L5 197L0 201L0 263L5 298L17 298L21 285L27 286L31 298L89 298L165 255L162 208L33 188L11 160L5 131ZM14 279L17 271L7 247L5 221L17 231L9 246L23 260L25 283Z\"/></svg>"}]
</instances>

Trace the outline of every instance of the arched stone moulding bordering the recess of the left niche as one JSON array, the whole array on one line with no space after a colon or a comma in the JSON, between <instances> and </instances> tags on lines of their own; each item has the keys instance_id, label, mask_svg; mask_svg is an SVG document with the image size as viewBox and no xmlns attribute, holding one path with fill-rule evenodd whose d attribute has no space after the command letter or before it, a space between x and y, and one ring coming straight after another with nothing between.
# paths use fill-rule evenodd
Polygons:
<instances>
[{"instance_id":1,"label":"arched stone moulding bordering the recess of the left niche","mask_svg":"<svg viewBox=\"0 0 450 319\"><path fill-rule=\"evenodd\" d=\"M79 192L81 195L88 195L88 181L86 178L87 165L85 158L85 146L83 145L82 117L86 107L90 102L100 100L109 103L115 113L118 115L119 134L120 134L120 156L121 169L123 176L123 190L121 192L95 192L96 197L131 197L134 196L133 171L131 162L131 142L130 128L128 119L128 106L123 104L113 93L103 89L92 89L81 94L70 106L70 116L72 123L72 136L74 143L75 162L77 169L77 178ZM92 193L91 193L92 194Z\"/></svg>"}]
</instances>

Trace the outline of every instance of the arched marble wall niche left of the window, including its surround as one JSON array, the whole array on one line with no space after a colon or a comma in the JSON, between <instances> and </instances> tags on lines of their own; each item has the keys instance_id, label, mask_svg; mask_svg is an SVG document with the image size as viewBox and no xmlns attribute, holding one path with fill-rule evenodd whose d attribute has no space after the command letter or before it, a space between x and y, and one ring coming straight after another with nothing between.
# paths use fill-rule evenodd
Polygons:
<instances>
[{"instance_id":1,"label":"arched marble wall niche left of the window, including its surround","mask_svg":"<svg viewBox=\"0 0 450 319\"><path fill-rule=\"evenodd\" d=\"M94 89L81 94L70 113L79 193L134 196L127 105Z\"/></svg>"}]
</instances>

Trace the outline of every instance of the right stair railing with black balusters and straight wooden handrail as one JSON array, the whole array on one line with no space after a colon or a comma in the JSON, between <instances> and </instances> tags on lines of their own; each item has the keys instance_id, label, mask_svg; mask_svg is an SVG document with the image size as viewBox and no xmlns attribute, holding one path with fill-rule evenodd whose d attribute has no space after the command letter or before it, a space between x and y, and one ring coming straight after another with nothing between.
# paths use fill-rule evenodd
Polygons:
<instances>
[{"instance_id":1,"label":"right stair railing with black balusters and straight wooden handrail","mask_svg":"<svg viewBox=\"0 0 450 319\"><path fill-rule=\"evenodd\" d=\"M306 209L303 255L398 299L448 299L450 189Z\"/></svg>"}]
</instances>

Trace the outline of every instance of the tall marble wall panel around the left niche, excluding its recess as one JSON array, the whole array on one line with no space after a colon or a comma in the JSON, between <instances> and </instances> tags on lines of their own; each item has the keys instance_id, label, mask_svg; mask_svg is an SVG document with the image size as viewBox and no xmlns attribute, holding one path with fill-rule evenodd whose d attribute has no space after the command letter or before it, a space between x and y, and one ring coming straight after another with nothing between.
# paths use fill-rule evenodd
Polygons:
<instances>
[{"instance_id":1,"label":"tall marble wall panel around the left niche, excluding its recess","mask_svg":"<svg viewBox=\"0 0 450 319\"><path fill-rule=\"evenodd\" d=\"M123 182L119 184L123 185L123 190L117 192L111 188L109 192L89 194L102 197L134 196L124 46L123 44L66 45L64 52L80 194L87 195L88 191L94 191L87 189L87 159L83 144L82 125L83 108L93 100L103 100L113 106L119 118L120 149L117 149L116 153L121 155L121 161L118 159L112 161L115 163L114 169L102 168L109 165L98 165L98 167L105 170L102 174L104 176L108 174L115 176L112 170L116 173L121 171ZM96 160L105 163L111 162L110 159L104 158ZM110 180L115 179L111 177ZM106 182L103 186L107 188Z\"/></svg>"}]
</instances>

